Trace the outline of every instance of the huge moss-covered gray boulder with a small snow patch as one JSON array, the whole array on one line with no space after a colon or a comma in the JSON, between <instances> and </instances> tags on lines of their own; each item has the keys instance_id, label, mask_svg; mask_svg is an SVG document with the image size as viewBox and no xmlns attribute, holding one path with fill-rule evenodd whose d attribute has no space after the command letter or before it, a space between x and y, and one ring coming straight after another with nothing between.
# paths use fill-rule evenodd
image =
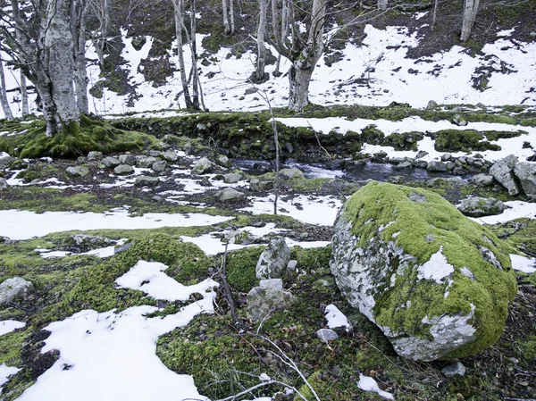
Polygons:
<instances>
[{"instance_id":1,"label":"huge moss-covered gray boulder with a small snow patch","mask_svg":"<svg viewBox=\"0 0 536 401\"><path fill-rule=\"evenodd\" d=\"M330 264L399 355L432 361L500 337L516 293L508 251L441 196L372 182L339 211Z\"/></svg>"}]
</instances>

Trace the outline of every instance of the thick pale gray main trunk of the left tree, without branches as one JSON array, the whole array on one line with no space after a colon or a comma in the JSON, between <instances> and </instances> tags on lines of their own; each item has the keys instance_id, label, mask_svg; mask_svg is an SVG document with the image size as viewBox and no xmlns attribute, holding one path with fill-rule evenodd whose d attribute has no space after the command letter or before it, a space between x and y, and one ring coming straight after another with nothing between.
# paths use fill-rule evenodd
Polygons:
<instances>
[{"instance_id":1,"label":"thick pale gray main trunk of the left tree, without branches","mask_svg":"<svg viewBox=\"0 0 536 401\"><path fill-rule=\"evenodd\" d=\"M40 89L46 131L52 135L71 121L80 121L80 111L72 85L74 75L73 38L69 0L48 4L45 32L46 70L49 84ZM45 83L45 82L41 82Z\"/></svg>"}]
</instances>

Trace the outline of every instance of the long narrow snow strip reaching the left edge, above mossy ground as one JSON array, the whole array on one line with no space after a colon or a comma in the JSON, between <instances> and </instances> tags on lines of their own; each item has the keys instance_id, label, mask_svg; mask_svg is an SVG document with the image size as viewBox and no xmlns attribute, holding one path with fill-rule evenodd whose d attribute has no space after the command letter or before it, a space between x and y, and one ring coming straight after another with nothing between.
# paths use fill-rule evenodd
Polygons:
<instances>
[{"instance_id":1,"label":"long narrow snow strip reaching the left edge, above mossy ground","mask_svg":"<svg viewBox=\"0 0 536 401\"><path fill-rule=\"evenodd\" d=\"M218 224L232 217L211 216L203 213L146 213L131 216L125 209L109 213L46 212L19 210L0 211L0 236L12 239L43 237L46 234L68 230L135 230L161 227L192 227Z\"/></svg>"}]
</instances>

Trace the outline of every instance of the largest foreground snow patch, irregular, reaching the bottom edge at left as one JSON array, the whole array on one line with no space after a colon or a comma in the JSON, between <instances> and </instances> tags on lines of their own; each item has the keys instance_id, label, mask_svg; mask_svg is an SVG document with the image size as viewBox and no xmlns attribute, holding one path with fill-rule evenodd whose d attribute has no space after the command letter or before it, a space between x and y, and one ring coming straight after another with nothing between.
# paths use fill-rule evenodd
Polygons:
<instances>
[{"instance_id":1,"label":"largest foreground snow patch, irregular, reaching the bottom edge at left","mask_svg":"<svg viewBox=\"0 0 536 401\"><path fill-rule=\"evenodd\" d=\"M121 313L86 310L50 323L45 330L52 334L42 352L58 349L60 358L18 400L206 400L198 394L191 376L176 374L163 365L155 347L163 333L188 324L198 313L214 311L215 293L211 288L217 283L205 280L196 286L172 287L163 280L163 270L162 263L140 262L122 280L132 288L140 287L138 280L156 280L163 284L151 288L151 296L156 299L184 300L193 293L203 299L164 318L147 318L147 313L158 309L146 305ZM176 290L174 295L172 290Z\"/></svg>"}]
</instances>

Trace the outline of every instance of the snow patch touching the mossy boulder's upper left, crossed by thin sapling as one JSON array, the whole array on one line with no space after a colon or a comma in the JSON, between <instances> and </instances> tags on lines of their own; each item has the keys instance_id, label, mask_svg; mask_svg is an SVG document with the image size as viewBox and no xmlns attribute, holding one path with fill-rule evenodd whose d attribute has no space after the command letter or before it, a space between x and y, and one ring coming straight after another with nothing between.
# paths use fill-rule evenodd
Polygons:
<instances>
[{"instance_id":1,"label":"snow patch touching the mossy boulder's upper left, crossed by thin sapling","mask_svg":"<svg viewBox=\"0 0 536 401\"><path fill-rule=\"evenodd\" d=\"M273 213L273 195L252 197L252 206L241 210L253 214ZM278 213L310 224L330 226L342 205L335 196L295 196L289 201L278 200Z\"/></svg>"}]
</instances>

